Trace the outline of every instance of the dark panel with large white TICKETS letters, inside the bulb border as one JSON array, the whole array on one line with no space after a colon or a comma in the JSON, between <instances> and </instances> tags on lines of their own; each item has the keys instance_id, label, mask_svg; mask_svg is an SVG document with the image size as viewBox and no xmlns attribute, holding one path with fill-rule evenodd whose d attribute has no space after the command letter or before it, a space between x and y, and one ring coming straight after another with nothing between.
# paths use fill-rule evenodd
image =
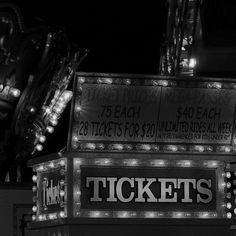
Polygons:
<instances>
[{"instance_id":1,"label":"dark panel with large white TICKETS letters, inside the bulb border","mask_svg":"<svg viewBox=\"0 0 236 236\"><path fill-rule=\"evenodd\" d=\"M214 211L214 169L81 166L81 208Z\"/></svg>"}]
</instances>

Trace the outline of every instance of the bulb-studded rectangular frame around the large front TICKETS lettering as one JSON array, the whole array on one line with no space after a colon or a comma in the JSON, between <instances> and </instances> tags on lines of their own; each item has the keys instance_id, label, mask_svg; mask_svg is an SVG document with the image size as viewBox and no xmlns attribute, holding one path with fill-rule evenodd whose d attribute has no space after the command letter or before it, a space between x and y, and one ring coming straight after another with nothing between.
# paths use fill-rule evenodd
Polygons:
<instances>
[{"instance_id":1,"label":"bulb-studded rectangular frame around the large front TICKETS lettering","mask_svg":"<svg viewBox=\"0 0 236 236\"><path fill-rule=\"evenodd\" d=\"M226 218L225 192L226 184L224 177L225 163L216 160L167 160L154 158L73 158L73 216L77 218L186 218L186 219L216 219ZM91 210L81 206L81 166L91 167L152 167L152 168L201 168L215 170L216 173L216 210L215 211L155 211L155 210Z\"/></svg>"}]
</instances>

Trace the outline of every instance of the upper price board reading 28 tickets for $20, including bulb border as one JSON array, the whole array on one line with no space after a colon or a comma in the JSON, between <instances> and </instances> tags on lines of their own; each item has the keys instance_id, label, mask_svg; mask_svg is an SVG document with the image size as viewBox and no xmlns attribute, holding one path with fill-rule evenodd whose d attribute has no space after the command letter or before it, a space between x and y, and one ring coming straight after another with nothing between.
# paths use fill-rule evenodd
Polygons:
<instances>
[{"instance_id":1,"label":"upper price board reading 28 tickets for $20, including bulb border","mask_svg":"<svg viewBox=\"0 0 236 236\"><path fill-rule=\"evenodd\" d=\"M77 74L69 149L232 152L231 81Z\"/></svg>"}]
</instances>

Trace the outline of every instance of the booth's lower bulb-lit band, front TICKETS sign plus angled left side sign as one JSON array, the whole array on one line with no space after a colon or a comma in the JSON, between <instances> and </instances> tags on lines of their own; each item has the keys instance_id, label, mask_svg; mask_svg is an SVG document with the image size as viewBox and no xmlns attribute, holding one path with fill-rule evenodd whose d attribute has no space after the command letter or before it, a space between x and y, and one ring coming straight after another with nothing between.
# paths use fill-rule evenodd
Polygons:
<instances>
[{"instance_id":1,"label":"booth's lower bulb-lit band, front TICKETS sign plus angled left side sign","mask_svg":"<svg viewBox=\"0 0 236 236\"><path fill-rule=\"evenodd\" d=\"M224 162L105 156L35 164L34 219L232 217Z\"/></svg>"}]
</instances>

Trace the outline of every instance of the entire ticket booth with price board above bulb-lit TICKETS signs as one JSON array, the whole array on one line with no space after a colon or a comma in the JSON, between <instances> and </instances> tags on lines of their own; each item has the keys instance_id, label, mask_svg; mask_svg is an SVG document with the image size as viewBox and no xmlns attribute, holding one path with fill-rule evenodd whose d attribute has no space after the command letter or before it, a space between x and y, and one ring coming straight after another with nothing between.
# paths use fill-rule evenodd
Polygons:
<instances>
[{"instance_id":1,"label":"entire ticket booth with price board above bulb-lit TICKETS signs","mask_svg":"<svg viewBox=\"0 0 236 236\"><path fill-rule=\"evenodd\" d=\"M67 150L29 163L31 230L234 235L235 88L232 80L77 73Z\"/></svg>"}]
</instances>

